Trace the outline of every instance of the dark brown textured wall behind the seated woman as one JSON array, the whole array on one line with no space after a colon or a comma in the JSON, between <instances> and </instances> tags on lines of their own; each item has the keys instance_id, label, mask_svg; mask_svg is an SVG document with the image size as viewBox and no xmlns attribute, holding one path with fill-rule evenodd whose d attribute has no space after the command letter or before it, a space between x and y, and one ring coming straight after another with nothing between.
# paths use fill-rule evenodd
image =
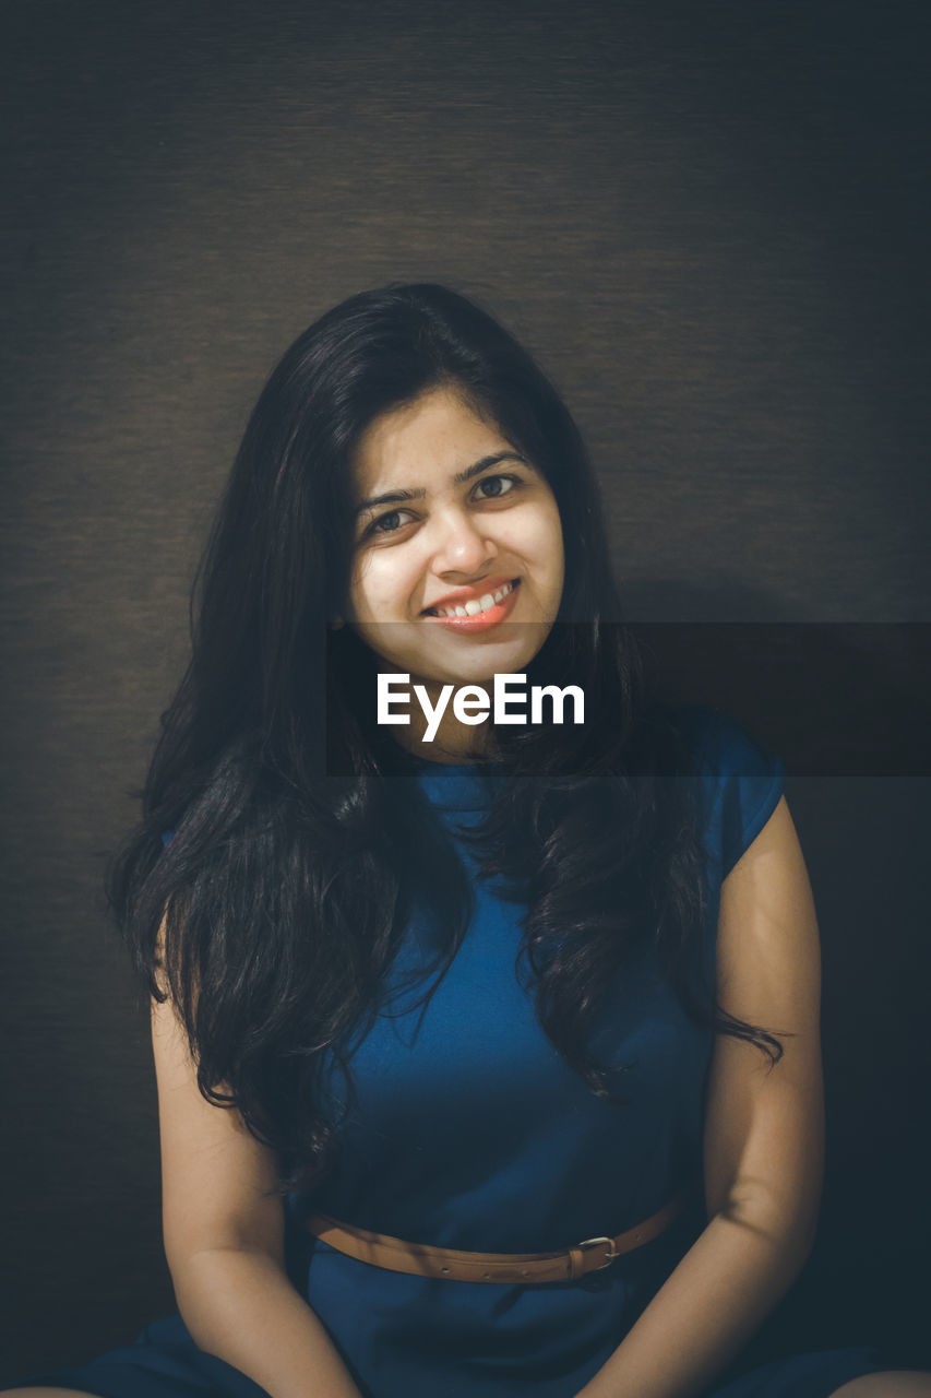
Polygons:
<instances>
[{"instance_id":1,"label":"dark brown textured wall behind the seated woman","mask_svg":"<svg viewBox=\"0 0 931 1398\"><path fill-rule=\"evenodd\" d=\"M832 1155L773 1334L914 1349L925 7L32 0L0 22L0 1377L172 1309L145 1011L103 860L264 376L329 305L410 278L478 295L538 352L590 440L629 615L679 684L798 755Z\"/></svg>"}]
</instances>

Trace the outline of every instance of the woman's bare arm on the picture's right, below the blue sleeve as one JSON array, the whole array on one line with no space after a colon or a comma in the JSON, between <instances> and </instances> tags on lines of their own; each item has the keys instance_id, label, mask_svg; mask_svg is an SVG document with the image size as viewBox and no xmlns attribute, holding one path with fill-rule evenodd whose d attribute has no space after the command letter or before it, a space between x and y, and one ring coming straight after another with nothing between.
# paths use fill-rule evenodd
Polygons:
<instances>
[{"instance_id":1,"label":"woman's bare arm on the picture's right, below the blue sleeve","mask_svg":"<svg viewBox=\"0 0 931 1398\"><path fill-rule=\"evenodd\" d=\"M579 1398L692 1398L795 1279L821 1198L818 923L786 798L721 886L723 1009L783 1039L716 1039L705 1124L709 1223Z\"/></svg>"}]
</instances>

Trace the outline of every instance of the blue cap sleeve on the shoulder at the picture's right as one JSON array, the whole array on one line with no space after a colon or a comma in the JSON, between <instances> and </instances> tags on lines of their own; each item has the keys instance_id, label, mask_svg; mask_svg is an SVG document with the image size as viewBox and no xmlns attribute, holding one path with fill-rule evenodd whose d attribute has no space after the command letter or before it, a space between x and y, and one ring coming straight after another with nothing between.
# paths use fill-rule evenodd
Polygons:
<instances>
[{"instance_id":1,"label":"blue cap sleeve on the shoulder at the picture's right","mask_svg":"<svg viewBox=\"0 0 931 1398\"><path fill-rule=\"evenodd\" d=\"M717 709L695 709L692 723L707 812L706 849L723 882L776 809L786 766Z\"/></svg>"}]
</instances>

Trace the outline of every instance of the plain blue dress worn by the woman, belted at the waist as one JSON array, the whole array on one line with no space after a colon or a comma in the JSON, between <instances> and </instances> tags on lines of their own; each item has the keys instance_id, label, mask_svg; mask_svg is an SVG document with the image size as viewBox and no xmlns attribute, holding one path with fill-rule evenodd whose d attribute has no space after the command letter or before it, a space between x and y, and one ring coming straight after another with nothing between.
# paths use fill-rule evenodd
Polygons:
<instances>
[{"instance_id":1,"label":"plain blue dress worn by the woman, belted at the waist","mask_svg":"<svg viewBox=\"0 0 931 1398\"><path fill-rule=\"evenodd\" d=\"M705 955L713 970L723 879L776 808L784 769L732 720L682 712L696 745L706 853ZM457 843L474 916L426 1007L404 977L429 955L417 916L393 967L397 994L352 1046L356 1096L340 1167L313 1211L415 1243L537 1253L616 1234L700 1177L710 1032L696 1028L650 949L618 977L591 1040L622 1071L623 1104L596 1097L544 1036L516 967L521 907L475 877L459 830L486 787L471 766L415 779ZM342 1083L330 1079L334 1099ZM700 1191L699 1191L700 1194ZM703 1226L695 1205L661 1237L575 1282L432 1281L313 1241L306 1297L365 1398L573 1398L618 1346ZM292 1198L296 1216L302 1201ZM794 1355L712 1385L707 1398L826 1398L883 1367L875 1350ZM738 1373L738 1377L732 1377ZM180 1316L88 1364L21 1380L103 1398L261 1398L197 1349Z\"/></svg>"}]
</instances>

